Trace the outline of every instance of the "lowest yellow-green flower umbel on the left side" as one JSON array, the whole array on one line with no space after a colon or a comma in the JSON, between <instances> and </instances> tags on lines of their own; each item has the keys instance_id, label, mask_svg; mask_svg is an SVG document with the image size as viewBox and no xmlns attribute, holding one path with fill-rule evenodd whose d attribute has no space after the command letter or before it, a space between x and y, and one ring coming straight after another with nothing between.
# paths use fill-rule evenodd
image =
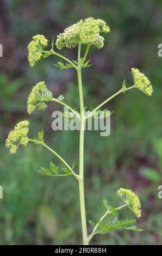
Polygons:
<instances>
[{"instance_id":1,"label":"lowest yellow-green flower umbel on the left side","mask_svg":"<svg viewBox=\"0 0 162 256\"><path fill-rule=\"evenodd\" d=\"M7 148L10 148L10 153L15 154L18 146L21 144L26 146L29 142L27 137L29 131L29 122L27 120L21 121L15 125L13 131L10 131L8 138L5 141Z\"/></svg>"}]
</instances>

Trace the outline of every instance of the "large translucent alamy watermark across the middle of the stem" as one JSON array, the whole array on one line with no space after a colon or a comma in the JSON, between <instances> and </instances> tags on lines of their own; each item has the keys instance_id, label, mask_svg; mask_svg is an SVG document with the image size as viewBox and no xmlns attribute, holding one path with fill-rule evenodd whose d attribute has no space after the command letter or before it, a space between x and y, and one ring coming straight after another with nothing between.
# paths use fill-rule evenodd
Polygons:
<instances>
[{"instance_id":1,"label":"large translucent alamy watermark across the middle of the stem","mask_svg":"<svg viewBox=\"0 0 162 256\"><path fill-rule=\"evenodd\" d=\"M52 113L52 130L53 131L79 131L80 130L80 117L68 111L68 108L64 108L64 112L54 111ZM83 113L83 126L81 129L87 131L100 131L100 136L105 137L110 135L110 111L87 111Z\"/></svg>"}]
</instances>

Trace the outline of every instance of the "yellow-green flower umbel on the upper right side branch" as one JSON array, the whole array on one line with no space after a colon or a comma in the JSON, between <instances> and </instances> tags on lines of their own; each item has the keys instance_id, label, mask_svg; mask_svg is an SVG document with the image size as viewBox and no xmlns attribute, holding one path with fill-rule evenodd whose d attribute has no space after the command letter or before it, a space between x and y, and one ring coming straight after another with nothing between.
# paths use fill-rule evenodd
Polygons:
<instances>
[{"instance_id":1,"label":"yellow-green flower umbel on the upper right side branch","mask_svg":"<svg viewBox=\"0 0 162 256\"><path fill-rule=\"evenodd\" d=\"M141 90L146 95L151 96L153 93L153 88L148 78L143 73L141 73L138 69L132 68L131 70L132 70L132 75L134 77L135 87Z\"/></svg>"}]
</instances>

